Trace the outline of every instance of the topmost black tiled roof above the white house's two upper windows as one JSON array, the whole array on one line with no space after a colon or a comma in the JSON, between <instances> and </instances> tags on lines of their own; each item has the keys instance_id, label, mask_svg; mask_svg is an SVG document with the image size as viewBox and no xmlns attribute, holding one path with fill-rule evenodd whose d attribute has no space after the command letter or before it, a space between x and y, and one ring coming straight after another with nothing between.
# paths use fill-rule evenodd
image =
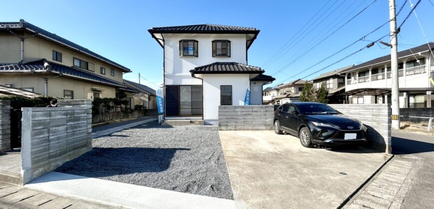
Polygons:
<instances>
[{"instance_id":1,"label":"topmost black tiled roof above the white house's two upper windows","mask_svg":"<svg viewBox=\"0 0 434 209\"><path fill-rule=\"evenodd\" d=\"M215 24L181 25L168 27L153 27L150 33L255 33L259 32L254 27L238 27Z\"/></svg>"}]
</instances>

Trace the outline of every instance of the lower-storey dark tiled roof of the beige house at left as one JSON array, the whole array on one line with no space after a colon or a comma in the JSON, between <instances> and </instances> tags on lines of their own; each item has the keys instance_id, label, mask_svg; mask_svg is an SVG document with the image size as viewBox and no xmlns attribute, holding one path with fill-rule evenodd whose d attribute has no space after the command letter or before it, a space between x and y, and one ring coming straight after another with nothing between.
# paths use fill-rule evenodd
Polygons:
<instances>
[{"instance_id":1,"label":"lower-storey dark tiled roof of the beige house at left","mask_svg":"<svg viewBox=\"0 0 434 209\"><path fill-rule=\"evenodd\" d=\"M125 87L122 83L107 79L98 75L95 75L90 72L86 72L84 70L80 70L73 67L68 67L64 65L59 65L55 63L49 63L51 65L52 71L57 71L62 73L62 76L66 77L78 77L82 79L92 80L97 83L103 83L111 86L118 86L118 87ZM29 70L35 70L35 71L46 71L44 68L44 63L42 60L29 62L29 63L23 63L23 64L0 64L0 73L3 71L29 71Z\"/></svg>"}]
</instances>

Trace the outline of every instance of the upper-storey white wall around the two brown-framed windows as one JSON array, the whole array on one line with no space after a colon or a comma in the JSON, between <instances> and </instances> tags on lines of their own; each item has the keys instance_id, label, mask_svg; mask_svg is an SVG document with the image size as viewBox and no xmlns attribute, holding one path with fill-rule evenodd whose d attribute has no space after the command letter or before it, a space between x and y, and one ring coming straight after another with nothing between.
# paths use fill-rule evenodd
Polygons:
<instances>
[{"instance_id":1,"label":"upper-storey white wall around the two brown-framed windows","mask_svg":"<svg viewBox=\"0 0 434 209\"><path fill-rule=\"evenodd\" d=\"M198 57L180 57L179 41L198 41ZM230 57L213 57L212 41L229 40ZM200 79L192 78L190 70L214 62L237 62L246 64L245 34L164 34L165 84L201 85Z\"/></svg>"}]
</instances>

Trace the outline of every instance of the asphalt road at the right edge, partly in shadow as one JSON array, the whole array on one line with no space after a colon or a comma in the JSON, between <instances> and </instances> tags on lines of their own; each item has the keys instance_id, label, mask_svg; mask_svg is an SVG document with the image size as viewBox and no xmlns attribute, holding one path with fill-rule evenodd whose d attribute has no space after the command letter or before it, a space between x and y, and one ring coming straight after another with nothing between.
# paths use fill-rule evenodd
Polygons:
<instances>
[{"instance_id":1,"label":"asphalt road at the right edge, partly in shadow","mask_svg":"<svg viewBox=\"0 0 434 209\"><path fill-rule=\"evenodd\" d=\"M411 183L402 208L434 208L434 136L392 131L392 151L395 155L422 158L422 166Z\"/></svg>"}]
</instances>

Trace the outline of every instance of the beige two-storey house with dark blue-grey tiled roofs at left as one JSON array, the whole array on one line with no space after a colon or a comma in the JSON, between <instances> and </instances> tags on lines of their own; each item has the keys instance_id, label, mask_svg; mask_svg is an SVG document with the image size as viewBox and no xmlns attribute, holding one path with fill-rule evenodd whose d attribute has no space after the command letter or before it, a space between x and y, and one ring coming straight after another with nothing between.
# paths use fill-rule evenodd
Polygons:
<instances>
[{"instance_id":1,"label":"beige two-storey house with dark blue-grey tiled roofs at left","mask_svg":"<svg viewBox=\"0 0 434 209\"><path fill-rule=\"evenodd\" d=\"M128 72L22 19L0 22L0 85L66 99L114 98Z\"/></svg>"}]
</instances>

